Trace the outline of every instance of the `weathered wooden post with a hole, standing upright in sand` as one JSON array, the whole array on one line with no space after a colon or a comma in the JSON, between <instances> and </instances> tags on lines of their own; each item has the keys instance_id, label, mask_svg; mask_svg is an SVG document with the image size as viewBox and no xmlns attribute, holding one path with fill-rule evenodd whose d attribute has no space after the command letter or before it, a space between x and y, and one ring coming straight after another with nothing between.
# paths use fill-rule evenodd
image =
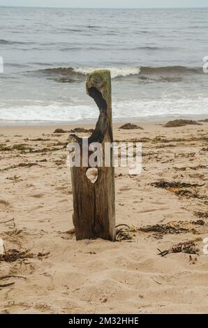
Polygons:
<instances>
[{"instance_id":1,"label":"weathered wooden post with a hole, standing upright in sand","mask_svg":"<svg viewBox=\"0 0 208 328\"><path fill-rule=\"evenodd\" d=\"M110 149L110 165L105 167L105 143L113 142L112 137L112 98L110 70L95 70L87 77L87 94L94 98L100 115L96 128L88 138L88 144L99 142L103 147L103 166L96 166L98 177L93 183L87 177L90 151L87 155L87 167L83 164L83 139L70 135L69 142L80 145L80 167L71 167L73 186L73 223L78 239L103 238L114 241L114 167L113 149ZM86 142L86 139L85 139ZM89 149L89 148L88 148ZM86 161L86 158L84 158Z\"/></svg>"}]
</instances>

